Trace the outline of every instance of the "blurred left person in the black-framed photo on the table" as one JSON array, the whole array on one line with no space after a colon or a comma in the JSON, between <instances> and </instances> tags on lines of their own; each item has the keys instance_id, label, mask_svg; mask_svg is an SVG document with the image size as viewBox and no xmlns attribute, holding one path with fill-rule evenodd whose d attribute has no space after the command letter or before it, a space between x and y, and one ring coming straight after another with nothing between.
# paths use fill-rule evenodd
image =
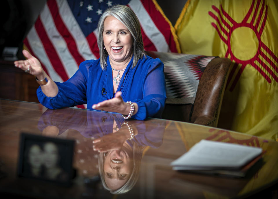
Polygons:
<instances>
[{"instance_id":1,"label":"blurred left person in the black-framed photo on the table","mask_svg":"<svg viewBox=\"0 0 278 199\"><path fill-rule=\"evenodd\" d=\"M40 177L43 174L43 151L38 144L32 144L27 149L24 173L30 174L34 177Z\"/></svg>"}]
</instances>

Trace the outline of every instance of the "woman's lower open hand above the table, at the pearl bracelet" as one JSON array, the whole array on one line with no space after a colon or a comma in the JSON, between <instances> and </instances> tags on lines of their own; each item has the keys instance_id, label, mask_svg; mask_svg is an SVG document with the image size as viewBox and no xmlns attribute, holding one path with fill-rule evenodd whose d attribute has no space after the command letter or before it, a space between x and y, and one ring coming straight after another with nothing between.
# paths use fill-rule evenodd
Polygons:
<instances>
[{"instance_id":1,"label":"woman's lower open hand above the table, at the pearl bracelet","mask_svg":"<svg viewBox=\"0 0 278 199\"><path fill-rule=\"evenodd\" d=\"M98 104L94 104L92 108L97 110L102 110L102 111L115 112L123 115L128 115L130 111L130 105L123 101L121 94L122 92L118 91L115 93L114 98L105 100ZM134 115L138 110L138 105L136 103L133 104L135 109L133 113Z\"/></svg>"}]
</instances>

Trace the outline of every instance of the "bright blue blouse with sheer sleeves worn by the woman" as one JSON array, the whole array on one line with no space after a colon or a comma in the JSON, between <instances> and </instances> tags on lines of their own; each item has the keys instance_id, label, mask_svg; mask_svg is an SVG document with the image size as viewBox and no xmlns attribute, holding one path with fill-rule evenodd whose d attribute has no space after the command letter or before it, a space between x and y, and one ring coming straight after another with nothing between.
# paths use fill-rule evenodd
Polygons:
<instances>
[{"instance_id":1,"label":"bright blue blouse with sheer sleeves worn by the woman","mask_svg":"<svg viewBox=\"0 0 278 199\"><path fill-rule=\"evenodd\" d=\"M160 59L143 57L132 68L133 57L127 65L117 91L122 92L124 101L138 104L138 111L132 118L144 120L147 117L160 118L165 106L166 83L164 65ZM93 104L114 97L112 68L107 57L107 68L102 70L100 60L87 60L80 64L76 73L67 81L55 82L58 94L46 96L41 87L37 96L42 105L50 109L73 107L87 103L87 109Z\"/></svg>"}]
</instances>

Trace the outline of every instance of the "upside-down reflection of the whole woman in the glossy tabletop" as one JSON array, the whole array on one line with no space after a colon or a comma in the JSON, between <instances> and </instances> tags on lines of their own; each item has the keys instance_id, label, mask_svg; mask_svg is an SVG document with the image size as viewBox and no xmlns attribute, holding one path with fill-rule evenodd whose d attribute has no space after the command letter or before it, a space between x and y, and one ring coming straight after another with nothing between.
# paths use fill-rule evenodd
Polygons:
<instances>
[{"instance_id":1,"label":"upside-down reflection of the whole woman in the glossy tabletop","mask_svg":"<svg viewBox=\"0 0 278 199\"><path fill-rule=\"evenodd\" d=\"M98 168L101 180L104 187L114 194L125 193L135 185L143 150L147 146L157 148L162 144L165 126L164 120L132 120L127 123L120 114L72 108L47 109L38 124L45 134L53 133L54 128L57 129L56 136L67 129L74 129L84 137L94 137L94 149L100 152ZM133 129L133 138L128 127ZM112 165L119 170L116 180L113 179L115 175L109 173Z\"/></svg>"}]
</instances>

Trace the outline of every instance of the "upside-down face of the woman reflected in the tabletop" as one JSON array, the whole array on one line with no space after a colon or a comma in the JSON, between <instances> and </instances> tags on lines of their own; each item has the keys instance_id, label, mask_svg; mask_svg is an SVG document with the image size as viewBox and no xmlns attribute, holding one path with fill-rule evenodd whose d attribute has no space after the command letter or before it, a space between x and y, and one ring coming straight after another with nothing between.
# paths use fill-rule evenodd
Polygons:
<instances>
[{"instance_id":1,"label":"upside-down face of the woman reflected in the tabletop","mask_svg":"<svg viewBox=\"0 0 278 199\"><path fill-rule=\"evenodd\" d=\"M122 187L130 177L132 163L130 154L125 150L108 152L103 166L106 185L112 190Z\"/></svg>"}]
</instances>

